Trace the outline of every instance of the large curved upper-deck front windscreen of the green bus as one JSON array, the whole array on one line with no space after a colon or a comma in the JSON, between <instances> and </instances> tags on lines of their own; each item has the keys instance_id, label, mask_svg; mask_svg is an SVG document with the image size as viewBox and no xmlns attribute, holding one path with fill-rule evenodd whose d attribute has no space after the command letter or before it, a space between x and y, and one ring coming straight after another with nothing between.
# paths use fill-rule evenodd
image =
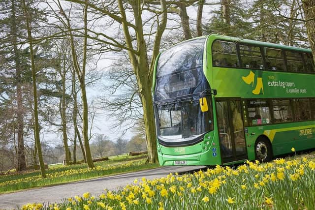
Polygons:
<instances>
[{"instance_id":1,"label":"large curved upper-deck front windscreen of the green bus","mask_svg":"<svg viewBox=\"0 0 315 210\"><path fill-rule=\"evenodd\" d=\"M202 68L205 40L183 42L160 55L156 101L201 92L209 87Z\"/></svg>"}]
</instances>

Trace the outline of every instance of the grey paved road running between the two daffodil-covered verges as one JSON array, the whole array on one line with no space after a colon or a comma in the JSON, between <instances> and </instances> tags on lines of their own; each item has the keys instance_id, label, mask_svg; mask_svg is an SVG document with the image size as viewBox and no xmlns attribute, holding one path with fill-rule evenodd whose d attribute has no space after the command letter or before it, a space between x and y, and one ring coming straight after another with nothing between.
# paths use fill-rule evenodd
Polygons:
<instances>
[{"instance_id":1,"label":"grey paved road running between the two daffodil-covered verges","mask_svg":"<svg viewBox=\"0 0 315 210\"><path fill-rule=\"evenodd\" d=\"M157 169L145 170L140 172L127 173L122 175L103 177L93 180L78 181L58 186L42 187L36 189L25 190L16 193L0 195L0 210L12 210L22 207L27 203L55 203L61 202L63 198L73 197L75 195L82 196L85 192L92 195L99 195L104 192L104 188L108 190L117 190L127 184L131 184L135 179L146 177L154 179L165 177L169 173L185 173L192 170L204 168L203 166L172 166L161 167Z\"/></svg>"}]
</instances>

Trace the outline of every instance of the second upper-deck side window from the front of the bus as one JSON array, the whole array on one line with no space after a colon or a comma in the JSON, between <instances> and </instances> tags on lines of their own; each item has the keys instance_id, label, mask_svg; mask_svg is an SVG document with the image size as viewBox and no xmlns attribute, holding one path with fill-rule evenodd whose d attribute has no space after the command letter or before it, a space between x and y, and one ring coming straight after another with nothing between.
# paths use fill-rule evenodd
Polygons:
<instances>
[{"instance_id":1,"label":"second upper-deck side window from the front of the bus","mask_svg":"<svg viewBox=\"0 0 315 210\"><path fill-rule=\"evenodd\" d=\"M240 44L240 56L243 68L263 69L260 47Z\"/></svg>"}]
</instances>

